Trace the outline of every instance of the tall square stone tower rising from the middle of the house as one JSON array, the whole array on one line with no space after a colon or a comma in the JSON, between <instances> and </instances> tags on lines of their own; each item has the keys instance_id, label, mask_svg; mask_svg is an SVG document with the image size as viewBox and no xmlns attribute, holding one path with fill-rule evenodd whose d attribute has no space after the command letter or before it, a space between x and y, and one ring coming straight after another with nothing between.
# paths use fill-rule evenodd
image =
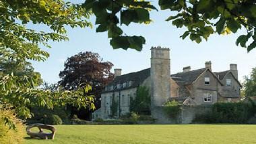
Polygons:
<instances>
[{"instance_id":1,"label":"tall square stone tower rising from the middle of the house","mask_svg":"<svg viewBox=\"0 0 256 144\"><path fill-rule=\"evenodd\" d=\"M152 47L151 49L151 107L162 106L170 98L170 50Z\"/></svg>"}]
</instances>

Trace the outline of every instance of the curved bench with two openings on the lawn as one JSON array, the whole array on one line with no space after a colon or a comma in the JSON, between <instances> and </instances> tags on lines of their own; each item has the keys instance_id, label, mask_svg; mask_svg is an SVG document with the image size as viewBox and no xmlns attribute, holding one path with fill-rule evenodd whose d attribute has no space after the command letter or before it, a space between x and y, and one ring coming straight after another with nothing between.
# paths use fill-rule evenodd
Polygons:
<instances>
[{"instance_id":1,"label":"curved bench with two openings on the lawn","mask_svg":"<svg viewBox=\"0 0 256 144\"><path fill-rule=\"evenodd\" d=\"M33 127L38 128L38 133L31 132L30 129ZM44 133L43 129L48 129L51 133ZM32 125L28 125L26 128L27 134L30 135L31 138L40 138L40 139L54 139L55 133L57 129L52 125L44 125L42 123L35 123Z\"/></svg>"}]
</instances>

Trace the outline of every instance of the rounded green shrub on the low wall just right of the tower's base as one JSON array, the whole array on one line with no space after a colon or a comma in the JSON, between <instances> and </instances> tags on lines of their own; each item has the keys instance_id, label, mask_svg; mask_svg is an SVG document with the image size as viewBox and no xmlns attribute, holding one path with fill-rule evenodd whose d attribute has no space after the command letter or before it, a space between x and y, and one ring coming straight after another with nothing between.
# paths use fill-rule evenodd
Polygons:
<instances>
[{"instance_id":1,"label":"rounded green shrub on the low wall just right of the tower's base","mask_svg":"<svg viewBox=\"0 0 256 144\"><path fill-rule=\"evenodd\" d=\"M177 101L172 100L164 104L164 112L166 115L168 115L168 117L175 119L181 112L181 107Z\"/></svg>"}]
</instances>

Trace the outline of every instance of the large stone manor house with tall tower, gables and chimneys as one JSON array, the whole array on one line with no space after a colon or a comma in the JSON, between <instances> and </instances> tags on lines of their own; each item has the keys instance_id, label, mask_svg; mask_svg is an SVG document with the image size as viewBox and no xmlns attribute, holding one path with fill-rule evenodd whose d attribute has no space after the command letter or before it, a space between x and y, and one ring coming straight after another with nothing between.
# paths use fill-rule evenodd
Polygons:
<instances>
[{"instance_id":1,"label":"large stone manor house with tall tower, gables and chimneys","mask_svg":"<svg viewBox=\"0 0 256 144\"><path fill-rule=\"evenodd\" d=\"M170 50L151 48L151 68L121 74L115 69L115 78L101 94L101 108L93 113L93 119L108 119L113 96L119 103L117 117L129 113L130 98L135 98L139 86L146 86L151 95L152 117L157 106L168 100L177 100L184 105L213 104L214 102L236 102L240 100L241 84L238 81L236 64L230 64L229 70L213 72L211 61L205 67L170 75ZM158 117L158 116L156 116Z\"/></svg>"}]
</instances>

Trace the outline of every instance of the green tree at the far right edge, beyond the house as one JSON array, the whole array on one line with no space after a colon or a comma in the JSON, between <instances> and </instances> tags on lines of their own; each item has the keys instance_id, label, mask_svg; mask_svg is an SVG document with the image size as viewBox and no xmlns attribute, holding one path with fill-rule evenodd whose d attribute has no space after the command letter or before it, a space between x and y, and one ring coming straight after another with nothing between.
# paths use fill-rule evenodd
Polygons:
<instances>
[{"instance_id":1,"label":"green tree at the far right edge, beyond the house","mask_svg":"<svg viewBox=\"0 0 256 144\"><path fill-rule=\"evenodd\" d=\"M245 96L256 96L256 68L253 68L251 76L245 76Z\"/></svg>"}]
</instances>

